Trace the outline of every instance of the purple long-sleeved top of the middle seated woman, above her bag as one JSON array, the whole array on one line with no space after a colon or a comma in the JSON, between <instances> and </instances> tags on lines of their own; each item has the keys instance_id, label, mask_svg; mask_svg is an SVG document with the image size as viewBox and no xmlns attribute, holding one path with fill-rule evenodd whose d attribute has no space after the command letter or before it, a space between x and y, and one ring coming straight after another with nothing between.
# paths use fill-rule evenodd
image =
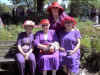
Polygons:
<instances>
[{"instance_id":1,"label":"purple long-sleeved top of the middle seated woman, above her bag","mask_svg":"<svg viewBox=\"0 0 100 75\"><path fill-rule=\"evenodd\" d=\"M58 41L56 32L54 30L49 30L48 31L48 38L47 40L44 39L44 32L43 31L38 31L35 36L35 44L36 46L41 43L41 44L49 44L53 43L55 41Z\"/></svg>"}]
</instances>

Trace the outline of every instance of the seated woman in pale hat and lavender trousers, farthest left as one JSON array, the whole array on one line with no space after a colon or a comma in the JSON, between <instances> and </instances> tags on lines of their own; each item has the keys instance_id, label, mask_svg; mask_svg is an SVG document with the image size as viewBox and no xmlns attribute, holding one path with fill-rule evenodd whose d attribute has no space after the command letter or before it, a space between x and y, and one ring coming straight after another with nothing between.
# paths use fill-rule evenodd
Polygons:
<instances>
[{"instance_id":1,"label":"seated woman in pale hat and lavender trousers, farthest left","mask_svg":"<svg viewBox=\"0 0 100 75\"><path fill-rule=\"evenodd\" d=\"M21 75L25 74L25 63L26 61L30 63L30 71L31 75L35 75L36 61L35 55L33 52L33 41L34 35L32 33L32 29L34 27L34 22L31 20L27 20L24 22L23 27L25 32L21 32L18 35L17 47L18 53L16 54L16 58L19 64L19 69Z\"/></svg>"}]
</instances>

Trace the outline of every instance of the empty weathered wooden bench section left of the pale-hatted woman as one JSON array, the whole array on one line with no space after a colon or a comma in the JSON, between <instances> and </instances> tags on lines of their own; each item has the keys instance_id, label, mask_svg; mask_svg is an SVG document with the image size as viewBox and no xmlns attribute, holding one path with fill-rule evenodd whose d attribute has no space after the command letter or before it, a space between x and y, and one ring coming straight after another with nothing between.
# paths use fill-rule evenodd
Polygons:
<instances>
[{"instance_id":1,"label":"empty weathered wooden bench section left of the pale-hatted woman","mask_svg":"<svg viewBox=\"0 0 100 75\"><path fill-rule=\"evenodd\" d=\"M14 72L15 41L0 41L0 72Z\"/></svg>"}]
</instances>

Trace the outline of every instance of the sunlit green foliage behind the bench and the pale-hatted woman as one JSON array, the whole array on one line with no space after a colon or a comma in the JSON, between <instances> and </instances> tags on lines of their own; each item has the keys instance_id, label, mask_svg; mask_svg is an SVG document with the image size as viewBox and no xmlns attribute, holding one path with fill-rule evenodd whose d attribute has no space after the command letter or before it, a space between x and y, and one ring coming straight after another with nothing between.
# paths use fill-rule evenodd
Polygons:
<instances>
[{"instance_id":1,"label":"sunlit green foliage behind the bench and the pale-hatted woman","mask_svg":"<svg viewBox=\"0 0 100 75\"><path fill-rule=\"evenodd\" d=\"M33 33L40 30L39 28L33 29ZM24 29L21 26L9 25L0 29L0 40L16 40L20 32L23 32Z\"/></svg>"}]
</instances>

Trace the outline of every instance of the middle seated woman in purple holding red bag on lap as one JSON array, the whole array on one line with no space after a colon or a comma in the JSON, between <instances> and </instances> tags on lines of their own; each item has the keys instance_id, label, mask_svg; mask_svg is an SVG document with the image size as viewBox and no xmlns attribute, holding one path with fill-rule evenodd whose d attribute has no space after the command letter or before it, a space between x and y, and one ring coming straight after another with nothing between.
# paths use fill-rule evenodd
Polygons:
<instances>
[{"instance_id":1,"label":"middle seated woman in purple holding red bag on lap","mask_svg":"<svg viewBox=\"0 0 100 75\"><path fill-rule=\"evenodd\" d=\"M40 49L38 65L43 71L43 75L47 75L47 71L52 71L52 75L56 75L59 67L59 44L54 30L49 30L50 23L48 19L41 20L42 30L36 33L35 44Z\"/></svg>"}]
</instances>

